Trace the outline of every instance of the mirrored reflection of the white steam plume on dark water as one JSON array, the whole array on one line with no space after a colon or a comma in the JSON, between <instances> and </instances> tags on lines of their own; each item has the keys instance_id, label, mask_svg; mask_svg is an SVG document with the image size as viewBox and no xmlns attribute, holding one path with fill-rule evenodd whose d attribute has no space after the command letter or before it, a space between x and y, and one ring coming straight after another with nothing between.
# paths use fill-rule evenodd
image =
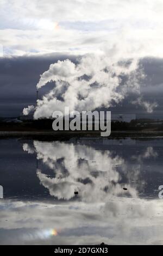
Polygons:
<instances>
[{"instance_id":1,"label":"mirrored reflection of the white steam plume on dark water","mask_svg":"<svg viewBox=\"0 0 163 256\"><path fill-rule=\"evenodd\" d=\"M23 149L28 153L35 149L37 159L54 170L54 178L43 174L40 169L37 169L37 176L51 196L58 199L69 200L74 197L74 191L79 192L78 198L84 202L106 202L111 196L122 196L122 174L126 178L128 196L136 198L145 185L145 181L140 181L140 157L138 163L128 170L124 159L114 156L114 152L83 144L34 141L34 149L27 144ZM148 147L142 157L155 157L155 154Z\"/></svg>"}]
</instances>

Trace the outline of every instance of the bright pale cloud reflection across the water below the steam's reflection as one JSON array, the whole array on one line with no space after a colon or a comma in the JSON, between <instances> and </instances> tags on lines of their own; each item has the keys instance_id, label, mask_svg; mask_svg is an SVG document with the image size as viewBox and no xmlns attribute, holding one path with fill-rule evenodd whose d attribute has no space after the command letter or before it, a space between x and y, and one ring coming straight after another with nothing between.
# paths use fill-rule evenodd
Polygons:
<instances>
[{"instance_id":1,"label":"bright pale cloud reflection across the water below the steam's reflection","mask_svg":"<svg viewBox=\"0 0 163 256\"><path fill-rule=\"evenodd\" d=\"M159 199L112 198L107 203L1 202L1 243L141 244L162 242ZM5 220L8 220L6 222ZM58 235L52 234L52 229ZM1 234L1 233L0 233Z\"/></svg>"}]
</instances>

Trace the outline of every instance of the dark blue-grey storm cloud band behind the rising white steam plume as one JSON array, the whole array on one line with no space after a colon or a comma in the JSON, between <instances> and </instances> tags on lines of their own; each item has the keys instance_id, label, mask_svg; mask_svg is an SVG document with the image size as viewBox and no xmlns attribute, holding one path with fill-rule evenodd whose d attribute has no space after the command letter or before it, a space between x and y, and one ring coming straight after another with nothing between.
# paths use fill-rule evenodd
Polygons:
<instances>
[{"instance_id":1,"label":"dark blue-grey storm cloud band behind the rising white steam plume","mask_svg":"<svg viewBox=\"0 0 163 256\"><path fill-rule=\"evenodd\" d=\"M40 74L59 59L77 62L78 56L67 54L46 54L43 56L12 57L0 59L0 116L17 116L22 109L36 101L36 84ZM141 95L146 101L156 101L158 107L152 114L137 105L131 104L137 95L129 95L120 104L111 107L114 113L136 113L137 117L159 118L163 110L163 59L145 58L141 60L146 78L141 84ZM40 89L40 97L52 88L52 84ZM162 117L161 117L162 118Z\"/></svg>"}]
</instances>

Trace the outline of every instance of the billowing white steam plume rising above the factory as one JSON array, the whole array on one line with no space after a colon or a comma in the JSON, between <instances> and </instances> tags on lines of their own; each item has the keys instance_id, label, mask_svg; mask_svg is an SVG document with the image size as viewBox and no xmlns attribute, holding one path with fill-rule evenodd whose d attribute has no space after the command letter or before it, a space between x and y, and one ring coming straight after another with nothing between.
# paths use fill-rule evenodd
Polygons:
<instances>
[{"instance_id":1,"label":"billowing white steam plume rising above the factory","mask_svg":"<svg viewBox=\"0 0 163 256\"><path fill-rule=\"evenodd\" d=\"M119 59L116 54L86 54L77 64L70 59L51 64L40 76L37 89L48 82L53 82L54 88L37 100L34 118L50 118L54 111L64 112L65 107L70 111L93 111L122 101L128 92L139 94L140 80L144 78L139 60ZM143 106L147 108L147 102ZM31 109L34 106L23 113Z\"/></svg>"}]
</instances>

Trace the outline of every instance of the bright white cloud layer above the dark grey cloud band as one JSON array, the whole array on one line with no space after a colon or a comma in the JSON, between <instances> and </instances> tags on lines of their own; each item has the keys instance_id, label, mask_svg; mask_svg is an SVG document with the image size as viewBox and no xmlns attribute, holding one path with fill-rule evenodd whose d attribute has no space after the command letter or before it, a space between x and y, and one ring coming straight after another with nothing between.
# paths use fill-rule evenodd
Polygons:
<instances>
[{"instance_id":1,"label":"bright white cloud layer above the dark grey cloud band","mask_svg":"<svg viewBox=\"0 0 163 256\"><path fill-rule=\"evenodd\" d=\"M120 44L130 57L162 57L162 11L161 0L4 0L0 43L5 54L86 53Z\"/></svg>"}]
</instances>

